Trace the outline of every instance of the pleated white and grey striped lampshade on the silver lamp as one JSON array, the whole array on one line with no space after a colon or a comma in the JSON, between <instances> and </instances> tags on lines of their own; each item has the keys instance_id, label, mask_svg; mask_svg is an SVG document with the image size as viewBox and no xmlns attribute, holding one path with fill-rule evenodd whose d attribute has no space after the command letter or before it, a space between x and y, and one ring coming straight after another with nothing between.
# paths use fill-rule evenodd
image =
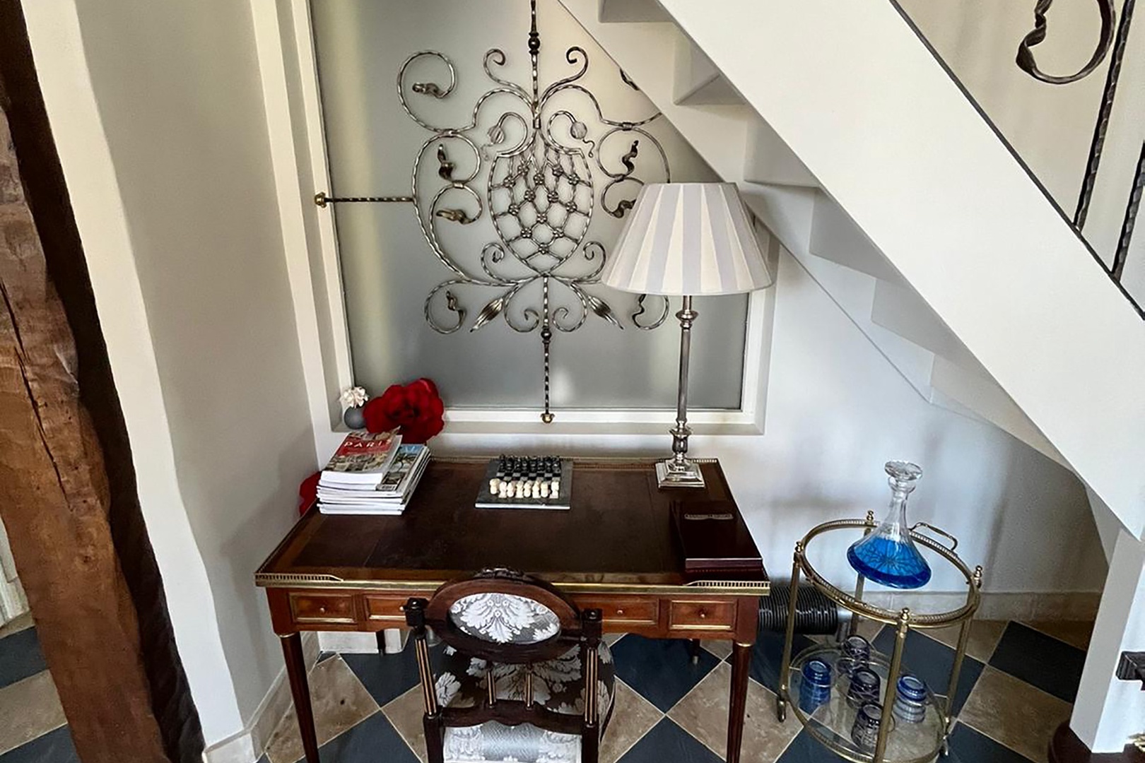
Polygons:
<instances>
[{"instance_id":1,"label":"pleated white and grey striped lampshade on the silver lamp","mask_svg":"<svg viewBox=\"0 0 1145 763\"><path fill-rule=\"evenodd\" d=\"M772 285L733 183L649 183L600 273L622 292L739 294Z\"/></svg>"}]
</instances>

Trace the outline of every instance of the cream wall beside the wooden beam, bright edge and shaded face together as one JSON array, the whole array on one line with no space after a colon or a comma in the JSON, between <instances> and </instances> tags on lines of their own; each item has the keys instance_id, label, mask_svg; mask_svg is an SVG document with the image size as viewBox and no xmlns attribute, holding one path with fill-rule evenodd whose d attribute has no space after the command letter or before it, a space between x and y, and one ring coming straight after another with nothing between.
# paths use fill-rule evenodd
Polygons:
<instances>
[{"instance_id":1,"label":"cream wall beside the wooden beam, bright edge and shaded face together","mask_svg":"<svg viewBox=\"0 0 1145 763\"><path fill-rule=\"evenodd\" d=\"M253 572L315 463L250 7L25 13L210 745L281 670Z\"/></svg>"}]
</instances>

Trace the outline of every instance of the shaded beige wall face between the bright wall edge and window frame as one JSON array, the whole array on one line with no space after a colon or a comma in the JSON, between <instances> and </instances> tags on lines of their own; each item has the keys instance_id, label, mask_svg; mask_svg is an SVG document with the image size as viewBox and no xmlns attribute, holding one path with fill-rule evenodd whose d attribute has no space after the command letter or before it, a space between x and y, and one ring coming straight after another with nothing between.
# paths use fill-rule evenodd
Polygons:
<instances>
[{"instance_id":1,"label":"shaded beige wall face between the bright wall edge and window frame","mask_svg":"<svg viewBox=\"0 0 1145 763\"><path fill-rule=\"evenodd\" d=\"M250 7L78 7L179 484L245 718L281 668L252 573L292 524L315 458Z\"/></svg>"}]
</instances>

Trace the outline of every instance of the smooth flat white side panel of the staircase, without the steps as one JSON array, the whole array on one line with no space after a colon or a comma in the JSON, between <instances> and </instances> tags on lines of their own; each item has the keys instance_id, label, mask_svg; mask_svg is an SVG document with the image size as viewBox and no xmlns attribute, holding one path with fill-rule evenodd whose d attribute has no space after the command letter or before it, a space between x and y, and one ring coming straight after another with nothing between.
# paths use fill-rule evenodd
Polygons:
<instances>
[{"instance_id":1,"label":"smooth flat white side panel of the staircase, without the steps","mask_svg":"<svg viewBox=\"0 0 1145 763\"><path fill-rule=\"evenodd\" d=\"M1145 324L892 5L662 5L1142 537Z\"/></svg>"}]
</instances>

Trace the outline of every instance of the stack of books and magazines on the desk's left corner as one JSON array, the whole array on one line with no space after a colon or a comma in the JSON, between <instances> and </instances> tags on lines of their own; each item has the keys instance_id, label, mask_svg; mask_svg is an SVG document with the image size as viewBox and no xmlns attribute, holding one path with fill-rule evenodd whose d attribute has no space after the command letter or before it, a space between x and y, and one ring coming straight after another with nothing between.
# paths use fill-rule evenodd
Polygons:
<instances>
[{"instance_id":1,"label":"stack of books and magazines on the desk's left corner","mask_svg":"<svg viewBox=\"0 0 1145 763\"><path fill-rule=\"evenodd\" d=\"M429 463L425 445L394 432L350 432L318 478L323 514L400 515Z\"/></svg>"}]
</instances>

